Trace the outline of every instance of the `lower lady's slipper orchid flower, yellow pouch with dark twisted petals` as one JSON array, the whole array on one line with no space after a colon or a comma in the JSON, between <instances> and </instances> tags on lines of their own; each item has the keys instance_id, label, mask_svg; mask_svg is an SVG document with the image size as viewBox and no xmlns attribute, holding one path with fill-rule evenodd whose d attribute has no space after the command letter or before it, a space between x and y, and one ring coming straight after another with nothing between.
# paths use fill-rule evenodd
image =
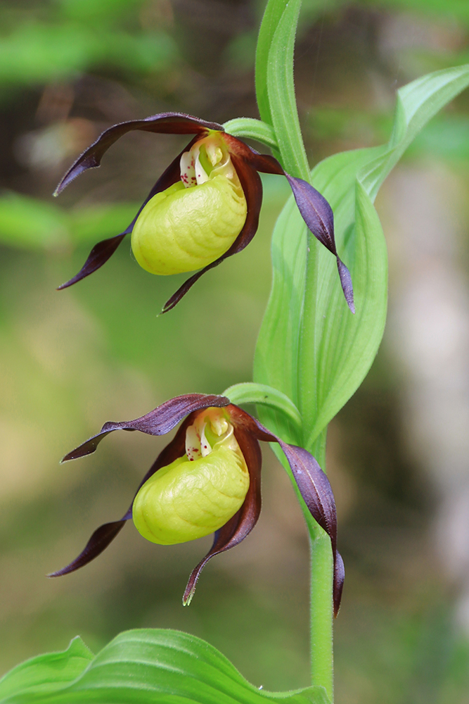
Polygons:
<instances>
[{"instance_id":1,"label":"lower lady's slipper orchid flower, yellow pouch with dark twisted petals","mask_svg":"<svg viewBox=\"0 0 469 704\"><path fill-rule=\"evenodd\" d=\"M191 602L201 570L218 553L238 545L255 527L261 510L259 440L277 442L311 515L326 531L334 558L333 604L340 606L344 566L337 551L335 501L326 474L306 450L284 443L225 396L177 396L136 420L105 423L65 460L89 455L114 430L164 435L184 420L174 439L143 477L127 513L105 523L59 577L96 558L131 518L144 538L171 545L214 533L214 542L189 578L183 603Z\"/></svg>"}]
</instances>

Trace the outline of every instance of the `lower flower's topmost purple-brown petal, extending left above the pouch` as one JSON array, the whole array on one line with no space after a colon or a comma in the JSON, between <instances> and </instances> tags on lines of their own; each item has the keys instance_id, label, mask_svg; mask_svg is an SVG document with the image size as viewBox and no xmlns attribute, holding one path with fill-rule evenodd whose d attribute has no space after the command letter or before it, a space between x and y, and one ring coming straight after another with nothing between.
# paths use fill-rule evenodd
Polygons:
<instances>
[{"instance_id":1,"label":"lower flower's topmost purple-brown petal, extending left above the pouch","mask_svg":"<svg viewBox=\"0 0 469 704\"><path fill-rule=\"evenodd\" d=\"M214 396L206 394L184 394L176 396L169 401L165 401L161 406L150 410L150 413L142 415L135 420L123 420L122 422L107 422L100 432L92 436L75 450L69 452L62 462L76 460L79 457L93 453L103 438L114 430L139 430L147 435L165 435L172 430L186 415L195 410L215 406L223 408L230 403L229 398L224 396Z\"/></svg>"}]
</instances>

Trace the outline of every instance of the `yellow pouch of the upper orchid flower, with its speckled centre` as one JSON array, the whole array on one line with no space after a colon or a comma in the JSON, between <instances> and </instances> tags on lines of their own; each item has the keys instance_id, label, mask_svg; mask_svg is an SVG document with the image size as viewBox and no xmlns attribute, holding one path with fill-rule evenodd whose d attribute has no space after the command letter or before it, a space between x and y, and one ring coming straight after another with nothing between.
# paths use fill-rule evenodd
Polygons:
<instances>
[{"instance_id":1,"label":"yellow pouch of the upper orchid flower, with its speckled centre","mask_svg":"<svg viewBox=\"0 0 469 704\"><path fill-rule=\"evenodd\" d=\"M131 236L134 256L152 274L201 269L231 247L247 210L226 144L212 132L181 156L181 180L141 211Z\"/></svg>"}]
</instances>

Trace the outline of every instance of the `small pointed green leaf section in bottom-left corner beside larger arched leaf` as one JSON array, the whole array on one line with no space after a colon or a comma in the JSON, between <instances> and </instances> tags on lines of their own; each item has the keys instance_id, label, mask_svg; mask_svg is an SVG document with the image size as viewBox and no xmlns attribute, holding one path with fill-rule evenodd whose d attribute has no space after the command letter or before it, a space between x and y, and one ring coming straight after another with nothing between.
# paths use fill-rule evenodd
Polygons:
<instances>
[{"instance_id":1,"label":"small pointed green leaf section in bottom-left corner beside larger arched leaf","mask_svg":"<svg viewBox=\"0 0 469 704\"><path fill-rule=\"evenodd\" d=\"M77 679L93 658L91 650L77 636L62 653L46 653L22 662L0 679L0 702L11 697L16 701L24 697L26 701L33 693L49 696Z\"/></svg>"}]
</instances>

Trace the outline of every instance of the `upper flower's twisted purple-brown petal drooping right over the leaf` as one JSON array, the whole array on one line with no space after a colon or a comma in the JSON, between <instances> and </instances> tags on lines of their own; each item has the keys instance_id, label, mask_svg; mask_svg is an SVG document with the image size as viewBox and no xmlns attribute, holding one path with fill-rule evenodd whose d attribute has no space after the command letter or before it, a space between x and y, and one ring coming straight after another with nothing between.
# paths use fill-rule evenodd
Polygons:
<instances>
[{"instance_id":1,"label":"upper flower's twisted purple-brown petal drooping right over the leaf","mask_svg":"<svg viewBox=\"0 0 469 704\"><path fill-rule=\"evenodd\" d=\"M321 244L332 252L337 259L342 291L344 291L347 305L350 310L352 310L352 313L355 313L352 277L337 253L334 236L334 215L328 201L326 201L324 196L322 196L319 191L316 191L307 181L290 176L290 174L283 170L273 156L258 154L244 144L244 142L240 142L239 139L231 137L231 135L226 135L224 139L229 141L231 149L235 150L241 158L244 158L245 161L250 163L257 171L285 175L287 177L304 222L306 222L309 230L314 234L314 237L319 239Z\"/></svg>"}]
</instances>

